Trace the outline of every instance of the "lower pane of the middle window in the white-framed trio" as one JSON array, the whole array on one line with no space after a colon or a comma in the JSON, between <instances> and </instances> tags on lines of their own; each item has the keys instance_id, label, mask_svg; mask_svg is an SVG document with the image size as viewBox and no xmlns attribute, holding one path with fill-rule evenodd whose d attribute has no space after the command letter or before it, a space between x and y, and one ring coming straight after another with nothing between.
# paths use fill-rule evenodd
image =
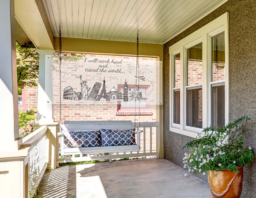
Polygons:
<instances>
[{"instance_id":1,"label":"lower pane of the middle window in the white-framed trio","mask_svg":"<svg viewBox=\"0 0 256 198\"><path fill-rule=\"evenodd\" d=\"M202 88L187 90L187 126L202 128L203 113Z\"/></svg>"}]
</instances>

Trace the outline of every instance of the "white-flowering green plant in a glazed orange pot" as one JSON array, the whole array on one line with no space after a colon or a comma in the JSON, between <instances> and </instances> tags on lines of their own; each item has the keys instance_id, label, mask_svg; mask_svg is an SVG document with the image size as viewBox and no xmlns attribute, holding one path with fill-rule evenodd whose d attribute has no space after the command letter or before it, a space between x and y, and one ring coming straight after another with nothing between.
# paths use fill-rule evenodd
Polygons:
<instances>
[{"instance_id":1,"label":"white-flowering green plant in a glazed orange pot","mask_svg":"<svg viewBox=\"0 0 256 198\"><path fill-rule=\"evenodd\" d=\"M223 128L212 126L203 130L204 135L185 144L190 148L183 158L184 168L191 173L208 173L208 182L213 197L240 197L243 182L243 167L253 162L251 147L245 147L242 134L244 123L250 120L243 116ZM186 176L186 174L185 174Z\"/></svg>"}]
</instances>

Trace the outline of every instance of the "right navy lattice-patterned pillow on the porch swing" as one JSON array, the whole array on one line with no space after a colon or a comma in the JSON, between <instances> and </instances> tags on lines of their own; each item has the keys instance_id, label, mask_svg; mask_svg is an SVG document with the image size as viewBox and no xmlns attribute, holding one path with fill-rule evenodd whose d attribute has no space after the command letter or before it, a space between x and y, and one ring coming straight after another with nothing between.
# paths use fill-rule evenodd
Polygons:
<instances>
[{"instance_id":1,"label":"right navy lattice-patterned pillow on the porch swing","mask_svg":"<svg viewBox=\"0 0 256 198\"><path fill-rule=\"evenodd\" d=\"M135 128L125 130L100 129L101 146L135 145Z\"/></svg>"}]
</instances>

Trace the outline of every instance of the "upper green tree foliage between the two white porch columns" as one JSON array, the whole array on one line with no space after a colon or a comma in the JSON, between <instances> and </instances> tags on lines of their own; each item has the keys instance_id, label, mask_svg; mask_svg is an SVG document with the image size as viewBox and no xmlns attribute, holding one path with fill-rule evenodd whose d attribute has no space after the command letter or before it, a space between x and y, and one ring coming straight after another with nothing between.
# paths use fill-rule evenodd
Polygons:
<instances>
[{"instance_id":1,"label":"upper green tree foliage between the two white porch columns","mask_svg":"<svg viewBox=\"0 0 256 198\"><path fill-rule=\"evenodd\" d=\"M27 43L22 47L16 43L16 56L18 95L20 95L22 87L37 86L39 54L31 43Z\"/></svg>"}]
</instances>

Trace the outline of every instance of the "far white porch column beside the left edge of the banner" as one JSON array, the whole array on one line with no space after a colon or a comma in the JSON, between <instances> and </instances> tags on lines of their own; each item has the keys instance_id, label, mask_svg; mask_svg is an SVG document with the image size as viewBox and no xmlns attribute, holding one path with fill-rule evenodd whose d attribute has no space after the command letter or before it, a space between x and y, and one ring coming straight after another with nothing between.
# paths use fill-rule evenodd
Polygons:
<instances>
[{"instance_id":1,"label":"far white porch column beside the left edge of the banner","mask_svg":"<svg viewBox=\"0 0 256 198\"><path fill-rule=\"evenodd\" d=\"M39 54L39 83L37 119L39 123L53 123L52 111L52 54L53 50L37 50Z\"/></svg>"}]
</instances>

